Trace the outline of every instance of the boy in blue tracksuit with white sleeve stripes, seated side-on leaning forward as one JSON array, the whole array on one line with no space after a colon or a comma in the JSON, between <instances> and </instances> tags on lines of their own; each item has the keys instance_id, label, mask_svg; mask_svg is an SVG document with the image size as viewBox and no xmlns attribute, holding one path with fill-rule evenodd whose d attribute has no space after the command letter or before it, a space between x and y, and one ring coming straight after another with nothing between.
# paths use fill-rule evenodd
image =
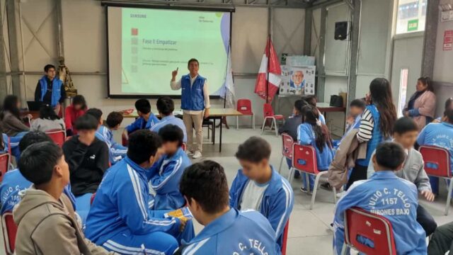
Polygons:
<instances>
[{"instance_id":1,"label":"boy in blue tracksuit with white sleeve stripes, seated side-on leaning forward","mask_svg":"<svg viewBox=\"0 0 453 255\"><path fill-rule=\"evenodd\" d=\"M159 159L160 147L155 132L139 130L130 136L127 157L109 169L96 192L86 221L88 239L121 254L173 254L178 248L175 237L192 239L190 221L186 225L148 208L147 172Z\"/></svg>"}]
</instances>

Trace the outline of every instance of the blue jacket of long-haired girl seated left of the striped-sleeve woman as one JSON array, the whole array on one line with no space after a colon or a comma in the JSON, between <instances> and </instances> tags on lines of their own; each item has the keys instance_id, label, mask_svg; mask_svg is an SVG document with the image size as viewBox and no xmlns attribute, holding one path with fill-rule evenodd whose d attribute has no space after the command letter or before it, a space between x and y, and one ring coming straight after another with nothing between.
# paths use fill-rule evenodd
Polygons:
<instances>
[{"instance_id":1,"label":"blue jacket of long-haired girl seated left of the striped-sleeve woman","mask_svg":"<svg viewBox=\"0 0 453 255\"><path fill-rule=\"evenodd\" d=\"M328 147L327 143L323 147L323 152L316 146L316 135L314 134L313 127L309 123L302 123L299 125L297 132L297 141L301 145L310 145L316 150L316 163L318 170L327 170L333 160L333 150Z\"/></svg>"}]
</instances>

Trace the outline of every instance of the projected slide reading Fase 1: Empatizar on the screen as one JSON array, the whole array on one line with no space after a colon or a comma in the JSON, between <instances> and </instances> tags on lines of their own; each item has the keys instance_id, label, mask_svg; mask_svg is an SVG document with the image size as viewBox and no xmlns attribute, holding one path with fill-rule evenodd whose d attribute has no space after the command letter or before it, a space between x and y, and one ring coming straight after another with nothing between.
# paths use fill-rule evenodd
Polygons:
<instances>
[{"instance_id":1,"label":"projected slide reading Fase 1: Empatizar on the screen","mask_svg":"<svg viewBox=\"0 0 453 255\"><path fill-rule=\"evenodd\" d=\"M109 96L180 95L171 72L200 62L210 94L226 77L231 13L108 6Z\"/></svg>"}]
</instances>

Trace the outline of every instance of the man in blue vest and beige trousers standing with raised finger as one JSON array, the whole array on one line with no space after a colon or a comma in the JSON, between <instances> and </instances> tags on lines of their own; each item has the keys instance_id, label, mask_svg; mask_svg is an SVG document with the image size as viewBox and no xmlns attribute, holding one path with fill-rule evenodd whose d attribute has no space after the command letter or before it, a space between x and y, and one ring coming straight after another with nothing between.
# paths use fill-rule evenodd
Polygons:
<instances>
[{"instance_id":1,"label":"man in blue vest and beige trousers standing with raised finger","mask_svg":"<svg viewBox=\"0 0 453 255\"><path fill-rule=\"evenodd\" d=\"M210 115L210 94L207 91L206 78L198 74L198 60L190 59L188 62L189 74L183 75L176 81L178 69L171 72L170 86L173 90L181 91L181 108L183 121L187 130L188 154L193 153L193 158L202 157L202 123L203 118ZM193 145L193 130L195 127L195 146Z\"/></svg>"}]
</instances>

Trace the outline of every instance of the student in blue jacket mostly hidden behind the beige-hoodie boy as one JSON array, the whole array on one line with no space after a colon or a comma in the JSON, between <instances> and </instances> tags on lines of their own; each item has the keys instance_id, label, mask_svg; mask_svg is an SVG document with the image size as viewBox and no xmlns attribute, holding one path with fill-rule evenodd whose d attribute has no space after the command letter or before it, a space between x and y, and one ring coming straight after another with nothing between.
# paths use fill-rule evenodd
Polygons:
<instances>
[{"instance_id":1,"label":"student in blue jacket mostly hidden behind the beige-hoodie boy","mask_svg":"<svg viewBox=\"0 0 453 255\"><path fill-rule=\"evenodd\" d=\"M52 142L52 140L44 132L28 132L22 137L21 142L19 142L19 150L23 152L30 145L38 142ZM40 169L37 170L40 171ZM25 190L25 188L29 188L31 184L30 181L23 177L18 169L7 171L3 177L3 181L0 183L0 215L3 215L5 212L11 212L14 206L21 201L19 193ZM71 193L71 186L65 186L63 193L66 194L71 200L72 205L75 207L75 198Z\"/></svg>"}]
</instances>

